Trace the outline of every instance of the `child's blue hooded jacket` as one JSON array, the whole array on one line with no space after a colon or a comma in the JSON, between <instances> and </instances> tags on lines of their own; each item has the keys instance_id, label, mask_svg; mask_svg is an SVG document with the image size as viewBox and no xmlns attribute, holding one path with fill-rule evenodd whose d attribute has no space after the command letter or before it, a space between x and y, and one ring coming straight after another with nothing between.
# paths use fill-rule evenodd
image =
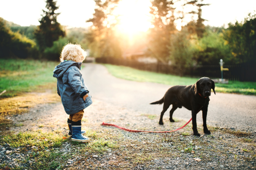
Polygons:
<instances>
[{"instance_id":1,"label":"child's blue hooded jacket","mask_svg":"<svg viewBox=\"0 0 256 170\"><path fill-rule=\"evenodd\" d=\"M68 115L77 113L93 103L80 72L81 64L64 61L53 70L53 77L57 78L57 92ZM88 97L84 101L83 97L87 93Z\"/></svg>"}]
</instances>

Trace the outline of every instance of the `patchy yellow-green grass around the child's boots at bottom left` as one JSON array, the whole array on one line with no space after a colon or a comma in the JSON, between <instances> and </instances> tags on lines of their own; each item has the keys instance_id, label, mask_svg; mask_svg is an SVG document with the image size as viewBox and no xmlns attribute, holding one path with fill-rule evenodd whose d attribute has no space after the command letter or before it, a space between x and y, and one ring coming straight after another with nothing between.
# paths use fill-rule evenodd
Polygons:
<instances>
[{"instance_id":1,"label":"patchy yellow-green grass around the child's boots at bottom left","mask_svg":"<svg viewBox=\"0 0 256 170\"><path fill-rule=\"evenodd\" d=\"M69 142L73 151L59 152L62 144L66 141L71 141L69 137L63 136L61 131L55 130L52 132L41 132L41 130L32 132L20 132L18 134L10 133L3 135L0 138L0 145L6 143L10 144L12 148L19 148L19 153L24 156L20 157L20 160L16 160L18 163L27 164L25 169L32 170L55 170L63 169L63 164L67 164L67 159L74 158L74 155L83 156L83 159L87 159L84 153L94 153L96 155L105 153L109 148L112 150L118 150L119 145L116 141L105 141L104 138L99 138L98 134L93 130L87 130L87 135L95 140L90 141L87 144L81 142ZM29 145L29 147L27 147ZM35 146L32 148L32 146ZM27 151L31 150L31 153ZM8 156L13 153L7 154ZM33 161L32 164L28 161ZM4 168L7 164L1 164L0 169ZM13 167L14 170L24 170L22 167Z\"/></svg>"}]
</instances>

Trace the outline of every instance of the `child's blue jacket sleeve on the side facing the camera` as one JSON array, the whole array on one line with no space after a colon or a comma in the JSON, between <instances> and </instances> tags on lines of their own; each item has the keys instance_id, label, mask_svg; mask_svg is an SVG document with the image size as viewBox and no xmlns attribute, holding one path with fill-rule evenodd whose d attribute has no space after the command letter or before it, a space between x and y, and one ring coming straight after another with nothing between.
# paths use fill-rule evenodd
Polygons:
<instances>
[{"instance_id":1,"label":"child's blue jacket sleeve on the side facing the camera","mask_svg":"<svg viewBox=\"0 0 256 170\"><path fill-rule=\"evenodd\" d=\"M78 69L70 69L67 78L71 88L75 91L76 94L80 95L81 98L83 98L83 96L89 92L87 89L85 89L83 83L81 82L80 72Z\"/></svg>"}]
</instances>

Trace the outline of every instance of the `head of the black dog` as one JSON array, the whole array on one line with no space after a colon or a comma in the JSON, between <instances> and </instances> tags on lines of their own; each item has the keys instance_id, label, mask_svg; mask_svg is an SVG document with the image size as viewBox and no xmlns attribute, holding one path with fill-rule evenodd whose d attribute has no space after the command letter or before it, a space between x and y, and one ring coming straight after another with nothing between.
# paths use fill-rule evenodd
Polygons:
<instances>
[{"instance_id":1,"label":"head of the black dog","mask_svg":"<svg viewBox=\"0 0 256 170\"><path fill-rule=\"evenodd\" d=\"M202 97L208 97L211 95L211 89L215 93L215 83L207 77L200 78L196 82L196 92L199 93Z\"/></svg>"}]
</instances>

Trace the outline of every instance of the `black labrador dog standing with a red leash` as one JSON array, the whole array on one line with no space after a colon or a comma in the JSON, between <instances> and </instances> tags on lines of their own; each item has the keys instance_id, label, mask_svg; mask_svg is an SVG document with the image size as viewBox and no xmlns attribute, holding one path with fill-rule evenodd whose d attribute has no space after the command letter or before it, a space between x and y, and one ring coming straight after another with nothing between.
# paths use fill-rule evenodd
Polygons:
<instances>
[{"instance_id":1,"label":"black labrador dog standing with a red leash","mask_svg":"<svg viewBox=\"0 0 256 170\"><path fill-rule=\"evenodd\" d=\"M173 112L181 106L192 111L192 129L196 136L200 136L196 125L196 115L200 110L203 112L203 127L205 134L211 134L207 128L206 118L209 105L209 96L211 95L211 89L215 94L214 81L207 77L200 78L195 84L189 86L172 86L167 90L166 94L160 101L153 102L151 104L163 104L163 111L161 112L159 124L163 124L163 114L172 104L170 111L170 121L172 119Z\"/></svg>"}]
</instances>

